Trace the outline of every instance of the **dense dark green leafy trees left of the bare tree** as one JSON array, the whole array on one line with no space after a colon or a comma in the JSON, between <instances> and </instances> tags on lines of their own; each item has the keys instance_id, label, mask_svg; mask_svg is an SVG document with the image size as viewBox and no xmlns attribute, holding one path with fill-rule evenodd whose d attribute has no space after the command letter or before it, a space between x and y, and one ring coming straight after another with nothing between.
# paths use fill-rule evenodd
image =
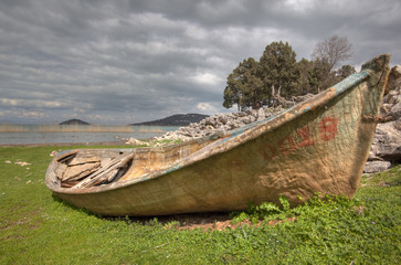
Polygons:
<instances>
[{"instance_id":1,"label":"dense dark green leafy trees left of the bare tree","mask_svg":"<svg viewBox=\"0 0 401 265\"><path fill-rule=\"evenodd\" d=\"M249 57L229 75L223 106L230 108L236 104L240 109L268 106L275 95L294 95L298 76L292 46L287 42L272 42L260 62Z\"/></svg>"}]
</instances>

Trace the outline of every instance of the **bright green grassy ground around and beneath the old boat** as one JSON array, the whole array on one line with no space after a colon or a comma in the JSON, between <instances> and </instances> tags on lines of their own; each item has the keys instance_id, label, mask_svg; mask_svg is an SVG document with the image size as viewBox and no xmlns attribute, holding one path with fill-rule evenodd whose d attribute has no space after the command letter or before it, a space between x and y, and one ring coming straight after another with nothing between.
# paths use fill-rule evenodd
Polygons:
<instances>
[{"instance_id":1,"label":"bright green grassy ground around and beneath the old boat","mask_svg":"<svg viewBox=\"0 0 401 265\"><path fill-rule=\"evenodd\" d=\"M400 166L362 177L353 200L314 199L260 226L191 231L64 204L44 184L61 148L73 147L0 148L0 264L400 264ZM266 224L285 216L295 221Z\"/></svg>"}]
</instances>

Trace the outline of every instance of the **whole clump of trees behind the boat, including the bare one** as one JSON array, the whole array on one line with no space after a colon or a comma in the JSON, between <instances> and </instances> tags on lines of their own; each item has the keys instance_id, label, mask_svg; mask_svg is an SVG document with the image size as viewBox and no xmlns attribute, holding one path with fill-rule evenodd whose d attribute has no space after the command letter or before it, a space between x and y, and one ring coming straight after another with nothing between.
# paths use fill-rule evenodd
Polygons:
<instances>
[{"instance_id":1,"label":"whole clump of trees behind the boat, including the bare one","mask_svg":"<svg viewBox=\"0 0 401 265\"><path fill-rule=\"evenodd\" d=\"M223 106L257 109L274 106L279 98L319 93L356 72L350 65L337 68L351 55L352 45L344 36L319 42L313 60L299 62L288 42L272 42L258 61L249 57L228 76Z\"/></svg>"}]
</instances>

